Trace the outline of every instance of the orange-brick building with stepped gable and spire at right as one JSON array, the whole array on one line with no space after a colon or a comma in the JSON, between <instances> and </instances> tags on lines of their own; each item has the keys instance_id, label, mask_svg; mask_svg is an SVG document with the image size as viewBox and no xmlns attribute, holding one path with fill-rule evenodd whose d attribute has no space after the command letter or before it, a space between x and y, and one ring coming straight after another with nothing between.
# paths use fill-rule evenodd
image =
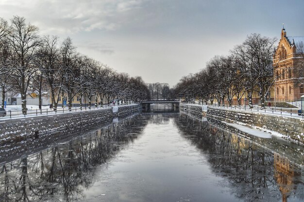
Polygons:
<instances>
[{"instance_id":1,"label":"orange-brick building with stepped gable and spire at right","mask_svg":"<svg viewBox=\"0 0 304 202\"><path fill-rule=\"evenodd\" d=\"M273 54L276 101L299 101L304 95L304 86L297 82L303 77L303 42L304 36L287 36L283 27Z\"/></svg>"}]
</instances>

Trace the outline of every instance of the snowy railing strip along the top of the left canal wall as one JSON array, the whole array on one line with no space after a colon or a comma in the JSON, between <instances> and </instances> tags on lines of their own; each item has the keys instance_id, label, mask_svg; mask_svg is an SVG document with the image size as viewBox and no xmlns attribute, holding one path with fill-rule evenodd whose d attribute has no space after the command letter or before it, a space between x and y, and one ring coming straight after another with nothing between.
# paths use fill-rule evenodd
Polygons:
<instances>
[{"instance_id":1,"label":"snowy railing strip along the top of the left canal wall","mask_svg":"<svg viewBox=\"0 0 304 202\"><path fill-rule=\"evenodd\" d=\"M130 104L119 104L116 106L123 106L123 105L130 105ZM113 104L103 104L98 106L83 106L83 107L72 107L70 110L68 107L57 107L56 110L53 109L28 109L26 114L22 113L22 110L8 110L6 111L6 116L1 117L0 119L8 119L8 118L17 118L17 117L33 117L33 116L40 116L40 115L54 115L54 114L65 114L65 113L71 113L71 112L82 112L82 111L90 111L90 110L99 110L99 109L107 109L111 108L112 106L115 106Z\"/></svg>"}]
</instances>

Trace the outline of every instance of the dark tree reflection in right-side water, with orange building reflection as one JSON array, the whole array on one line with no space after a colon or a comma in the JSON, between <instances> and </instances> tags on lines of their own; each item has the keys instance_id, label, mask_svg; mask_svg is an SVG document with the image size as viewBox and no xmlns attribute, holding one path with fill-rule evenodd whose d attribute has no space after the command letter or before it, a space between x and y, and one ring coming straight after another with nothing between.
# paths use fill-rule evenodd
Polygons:
<instances>
[{"instance_id":1,"label":"dark tree reflection in right-side water, with orange building reflection","mask_svg":"<svg viewBox=\"0 0 304 202\"><path fill-rule=\"evenodd\" d=\"M237 198L246 202L287 202L288 196L293 194L298 200L303 200L301 169L284 157L287 148L278 146L277 140L257 138L257 143L228 132L227 127L225 130L186 115L176 118L175 124L191 144L208 153L213 171L228 179L226 186L231 187ZM260 147L262 141L266 141L263 144L274 145L276 152ZM288 150L296 152L292 156L301 156L302 151Z\"/></svg>"}]
</instances>

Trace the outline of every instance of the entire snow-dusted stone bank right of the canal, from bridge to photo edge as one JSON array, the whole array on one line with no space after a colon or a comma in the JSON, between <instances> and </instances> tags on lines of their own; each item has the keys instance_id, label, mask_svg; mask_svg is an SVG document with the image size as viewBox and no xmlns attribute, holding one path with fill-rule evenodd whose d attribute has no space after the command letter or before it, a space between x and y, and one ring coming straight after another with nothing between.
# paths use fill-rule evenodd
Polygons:
<instances>
[{"instance_id":1,"label":"entire snow-dusted stone bank right of the canal, from bridge to photo edge","mask_svg":"<svg viewBox=\"0 0 304 202\"><path fill-rule=\"evenodd\" d=\"M181 104L182 111L198 118L206 117L259 129L304 144L304 119L279 114Z\"/></svg>"}]
</instances>

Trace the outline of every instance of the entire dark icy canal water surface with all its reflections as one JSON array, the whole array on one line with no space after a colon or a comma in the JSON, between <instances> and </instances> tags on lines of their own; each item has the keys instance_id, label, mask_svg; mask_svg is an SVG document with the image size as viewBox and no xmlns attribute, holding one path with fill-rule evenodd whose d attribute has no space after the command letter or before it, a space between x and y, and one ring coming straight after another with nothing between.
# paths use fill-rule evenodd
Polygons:
<instances>
[{"instance_id":1,"label":"entire dark icy canal water surface with all its reflections","mask_svg":"<svg viewBox=\"0 0 304 202\"><path fill-rule=\"evenodd\" d=\"M126 118L1 164L0 201L304 201L303 147L227 130L179 113Z\"/></svg>"}]
</instances>

